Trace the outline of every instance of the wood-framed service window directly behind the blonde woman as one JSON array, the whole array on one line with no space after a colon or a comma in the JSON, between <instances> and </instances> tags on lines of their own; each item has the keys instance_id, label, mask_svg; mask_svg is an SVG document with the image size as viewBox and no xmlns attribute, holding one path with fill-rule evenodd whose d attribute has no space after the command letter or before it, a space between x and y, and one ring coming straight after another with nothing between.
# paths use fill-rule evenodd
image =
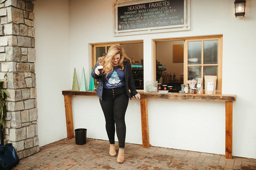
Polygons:
<instances>
[{"instance_id":1,"label":"wood-framed service window directly behind the blonde woman","mask_svg":"<svg viewBox=\"0 0 256 170\"><path fill-rule=\"evenodd\" d=\"M92 44L92 68L102 54L108 52L112 45L119 45L124 48L125 54L131 59L132 73L136 89L143 89L143 41L131 41L109 44Z\"/></svg>"}]
</instances>

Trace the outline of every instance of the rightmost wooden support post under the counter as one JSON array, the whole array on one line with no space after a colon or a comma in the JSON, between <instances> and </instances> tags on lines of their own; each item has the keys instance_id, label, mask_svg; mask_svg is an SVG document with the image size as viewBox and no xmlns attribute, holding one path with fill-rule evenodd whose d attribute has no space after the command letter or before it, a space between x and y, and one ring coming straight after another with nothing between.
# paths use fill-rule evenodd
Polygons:
<instances>
[{"instance_id":1,"label":"rightmost wooden support post under the counter","mask_svg":"<svg viewBox=\"0 0 256 170\"><path fill-rule=\"evenodd\" d=\"M226 159L232 159L233 102L226 101Z\"/></svg>"}]
</instances>

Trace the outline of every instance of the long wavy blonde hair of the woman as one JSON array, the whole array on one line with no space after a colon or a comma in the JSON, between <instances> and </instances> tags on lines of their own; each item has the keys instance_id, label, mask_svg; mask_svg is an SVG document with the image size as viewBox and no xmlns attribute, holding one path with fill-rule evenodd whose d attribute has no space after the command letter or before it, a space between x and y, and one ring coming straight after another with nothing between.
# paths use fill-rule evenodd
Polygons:
<instances>
[{"instance_id":1,"label":"long wavy blonde hair of the woman","mask_svg":"<svg viewBox=\"0 0 256 170\"><path fill-rule=\"evenodd\" d=\"M120 54L119 66L121 66L121 69L118 69L118 71L124 70L123 62L130 61L130 58L126 56L126 54L124 53L124 49L122 47L118 45L111 46L108 49L108 53L106 55L103 55L102 57L98 58L98 63L103 66L103 71L106 73L106 77L108 76L108 73L113 71L113 60L116 54Z\"/></svg>"}]
</instances>

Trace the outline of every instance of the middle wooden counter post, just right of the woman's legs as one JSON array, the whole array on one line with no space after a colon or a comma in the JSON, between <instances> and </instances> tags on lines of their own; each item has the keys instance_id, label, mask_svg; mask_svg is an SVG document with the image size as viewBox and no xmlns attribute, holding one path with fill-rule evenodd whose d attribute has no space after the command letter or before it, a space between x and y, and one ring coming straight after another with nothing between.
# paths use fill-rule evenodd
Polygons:
<instances>
[{"instance_id":1,"label":"middle wooden counter post, just right of the woman's legs","mask_svg":"<svg viewBox=\"0 0 256 170\"><path fill-rule=\"evenodd\" d=\"M148 99L140 99L141 112L141 132L142 132L142 148L149 148L149 131L148 131Z\"/></svg>"}]
</instances>

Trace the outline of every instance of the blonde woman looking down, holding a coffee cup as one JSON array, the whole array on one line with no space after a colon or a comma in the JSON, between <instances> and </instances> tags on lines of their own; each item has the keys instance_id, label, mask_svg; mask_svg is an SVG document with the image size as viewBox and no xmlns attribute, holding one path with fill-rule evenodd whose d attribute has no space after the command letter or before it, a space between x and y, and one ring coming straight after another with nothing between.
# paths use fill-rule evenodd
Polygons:
<instances>
[{"instance_id":1,"label":"blonde woman looking down, holding a coffee cup","mask_svg":"<svg viewBox=\"0 0 256 170\"><path fill-rule=\"evenodd\" d=\"M97 69L99 65L103 66L103 75L99 75L100 72ZM125 55L123 48L118 45L111 46L107 55L98 59L93 69L92 77L99 79L96 94L100 98L100 105L106 120L106 130L110 143L109 154L110 156L116 156L116 124L119 143L117 162L122 164L124 161L126 108L131 96L140 99L140 94L135 89L130 59Z\"/></svg>"}]
</instances>

